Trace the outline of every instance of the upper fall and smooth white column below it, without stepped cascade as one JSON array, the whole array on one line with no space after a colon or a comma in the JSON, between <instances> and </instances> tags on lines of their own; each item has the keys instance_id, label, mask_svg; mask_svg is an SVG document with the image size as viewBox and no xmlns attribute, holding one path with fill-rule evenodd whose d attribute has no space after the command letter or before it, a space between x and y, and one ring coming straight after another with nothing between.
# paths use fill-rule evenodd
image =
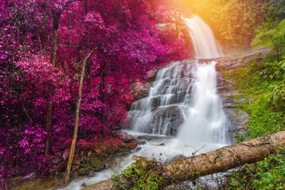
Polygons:
<instances>
[{"instance_id":1,"label":"upper fall and smooth white column below it, without stepped cascade","mask_svg":"<svg viewBox=\"0 0 285 190\"><path fill-rule=\"evenodd\" d=\"M189 28L195 58L211 59L223 56L221 48L214 40L211 28L199 16L185 19ZM229 144L228 125L217 95L216 62L196 65L193 75L192 102L187 112L187 120L180 127L178 139L185 144Z\"/></svg>"}]
</instances>

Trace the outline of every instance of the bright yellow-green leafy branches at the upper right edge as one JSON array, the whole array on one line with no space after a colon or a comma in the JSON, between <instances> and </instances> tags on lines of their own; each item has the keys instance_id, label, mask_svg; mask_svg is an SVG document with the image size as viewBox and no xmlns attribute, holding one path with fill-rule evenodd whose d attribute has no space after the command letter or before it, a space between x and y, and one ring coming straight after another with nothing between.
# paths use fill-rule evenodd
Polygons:
<instances>
[{"instance_id":1,"label":"bright yellow-green leafy branches at the upper right edge","mask_svg":"<svg viewBox=\"0 0 285 190\"><path fill-rule=\"evenodd\" d=\"M280 23L278 19L267 19L257 30L257 36L252 41L252 45L259 48L272 48L279 60L285 53L285 19Z\"/></svg>"}]
</instances>

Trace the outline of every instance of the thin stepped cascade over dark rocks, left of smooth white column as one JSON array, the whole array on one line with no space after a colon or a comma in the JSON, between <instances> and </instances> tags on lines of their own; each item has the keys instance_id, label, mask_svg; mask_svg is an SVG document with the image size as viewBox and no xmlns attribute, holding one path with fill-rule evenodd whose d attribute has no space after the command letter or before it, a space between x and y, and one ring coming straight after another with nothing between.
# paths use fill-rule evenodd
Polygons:
<instances>
[{"instance_id":1,"label":"thin stepped cascade over dark rocks, left of smooth white column","mask_svg":"<svg viewBox=\"0 0 285 190\"><path fill-rule=\"evenodd\" d=\"M128 115L137 132L175 135L186 119L191 102L192 68L195 61L172 63L157 73L149 96L134 102Z\"/></svg>"}]
</instances>

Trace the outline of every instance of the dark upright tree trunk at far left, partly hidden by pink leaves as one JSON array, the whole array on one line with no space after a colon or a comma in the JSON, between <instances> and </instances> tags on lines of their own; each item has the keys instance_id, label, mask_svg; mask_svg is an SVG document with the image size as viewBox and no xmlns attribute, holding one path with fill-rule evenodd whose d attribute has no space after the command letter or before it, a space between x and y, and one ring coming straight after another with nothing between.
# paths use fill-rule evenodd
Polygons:
<instances>
[{"instance_id":1,"label":"dark upright tree trunk at far left, partly hidden by pink leaves","mask_svg":"<svg viewBox=\"0 0 285 190\"><path fill-rule=\"evenodd\" d=\"M51 64L53 67L56 66L56 50L58 46L58 24L59 19L61 18L61 11L53 12L53 43L51 47ZM50 153L51 149L51 110L52 103L51 100L48 100L47 103L47 112L46 112L46 132L48 133L46 136L46 151L45 154Z\"/></svg>"}]
</instances>

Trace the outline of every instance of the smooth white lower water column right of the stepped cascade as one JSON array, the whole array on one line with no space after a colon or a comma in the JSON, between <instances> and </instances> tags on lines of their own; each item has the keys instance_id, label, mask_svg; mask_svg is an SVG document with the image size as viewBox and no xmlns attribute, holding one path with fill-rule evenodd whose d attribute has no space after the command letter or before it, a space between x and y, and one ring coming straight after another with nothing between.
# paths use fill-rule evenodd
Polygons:
<instances>
[{"instance_id":1,"label":"smooth white lower water column right of the stepped cascade","mask_svg":"<svg viewBox=\"0 0 285 190\"><path fill-rule=\"evenodd\" d=\"M192 102L187 120L180 126L177 138L194 147L204 144L228 144L228 121L217 95L215 62L198 63L195 83L192 85Z\"/></svg>"}]
</instances>

